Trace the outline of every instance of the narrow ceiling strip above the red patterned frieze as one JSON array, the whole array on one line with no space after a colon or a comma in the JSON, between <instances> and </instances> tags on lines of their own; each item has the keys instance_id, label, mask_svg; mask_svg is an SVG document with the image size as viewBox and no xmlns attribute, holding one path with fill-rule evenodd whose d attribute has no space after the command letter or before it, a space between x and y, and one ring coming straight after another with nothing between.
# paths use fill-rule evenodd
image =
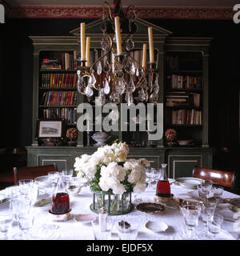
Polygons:
<instances>
[{"instance_id":1,"label":"narrow ceiling strip above the red patterned frieze","mask_svg":"<svg viewBox=\"0 0 240 256\"><path fill-rule=\"evenodd\" d=\"M102 6L99 0L5 0L10 6ZM107 1L110 6L112 1ZM122 0L122 6L228 6L239 3L236 0Z\"/></svg>"}]
</instances>

